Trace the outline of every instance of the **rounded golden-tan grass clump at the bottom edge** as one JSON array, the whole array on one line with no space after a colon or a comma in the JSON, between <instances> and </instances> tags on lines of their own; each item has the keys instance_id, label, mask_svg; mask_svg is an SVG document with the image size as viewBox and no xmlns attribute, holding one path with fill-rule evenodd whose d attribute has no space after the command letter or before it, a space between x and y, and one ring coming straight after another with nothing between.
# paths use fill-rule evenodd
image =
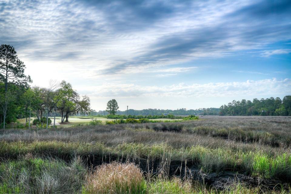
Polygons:
<instances>
[{"instance_id":1,"label":"rounded golden-tan grass clump at the bottom edge","mask_svg":"<svg viewBox=\"0 0 291 194\"><path fill-rule=\"evenodd\" d=\"M142 171L133 163L112 162L98 166L88 176L83 193L145 193Z\"/></svg>"}]
</instances>

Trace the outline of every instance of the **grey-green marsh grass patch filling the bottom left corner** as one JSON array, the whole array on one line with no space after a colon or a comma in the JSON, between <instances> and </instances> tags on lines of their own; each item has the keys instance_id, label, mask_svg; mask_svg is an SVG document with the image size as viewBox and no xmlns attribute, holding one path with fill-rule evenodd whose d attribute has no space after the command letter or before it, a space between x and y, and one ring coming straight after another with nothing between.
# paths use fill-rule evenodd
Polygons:
<instances>
[{"instance_id":1,"label":"grey-green marsh grass patch filling the bottom left corner","mask_svg":"<svg viewBox=\"0 0 291 194\"><path fill-rule=\"evenodd\" d=\"M70 164L49 158L2 162L0 193L75 193L80 191L85 174L79 158Z\"/></svg>"}]
</instances>

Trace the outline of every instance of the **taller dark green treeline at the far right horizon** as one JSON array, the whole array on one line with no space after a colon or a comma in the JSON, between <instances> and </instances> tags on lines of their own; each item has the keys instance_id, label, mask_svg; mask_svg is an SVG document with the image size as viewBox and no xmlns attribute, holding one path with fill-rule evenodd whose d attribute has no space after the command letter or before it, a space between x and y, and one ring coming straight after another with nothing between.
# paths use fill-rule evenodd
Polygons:
<instances>
[{"instance_id":1,"label":"taller dark green treeline at the far right horizon","mask_svg":"<svg viewBox=\"0 0 291 194\"><path fill-rule=\"evenodd\" d=\"M283 100L279 97L267 99L233 100L228 105L220 107L219 115L261 115L261 116L291 116L291 95Z\"/></svg>"}]
</instances>

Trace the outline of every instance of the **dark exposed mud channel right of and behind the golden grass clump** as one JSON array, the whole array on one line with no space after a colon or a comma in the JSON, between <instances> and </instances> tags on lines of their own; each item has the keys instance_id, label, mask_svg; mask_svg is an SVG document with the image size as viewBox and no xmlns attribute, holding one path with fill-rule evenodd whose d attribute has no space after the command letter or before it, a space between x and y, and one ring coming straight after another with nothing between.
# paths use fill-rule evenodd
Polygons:
<instances>
[{"instance_id":1,"label":"dark exposed mud channel right of and behind the golden grass clump","mask_svg":"<svg viewBox=\"0 0 291 194\"><path fill-rule=\"evenodd\" d=\"M170 164L167 164L166 161L146 161L144 159L129 159L129 158L119 158L118 156L111 156L110 159L107 158L91 158L89 163L93 166L99 166L102 163L109 163L110 161L119 161L119 162L133 162L138 165L145 173L152 174L153 176L159 173L165 173L166 176L178 176L184 178L187 176L193 181L199 181L207 188L214 188L217 190L223 190L231 188L234 184L243 184L245 186L263 186L266 189L276 189L280 187L280 184L290 183L286 180L272 180L272 179L261 179L259 177L246 175L239 172L212 172L205 173L194 163L187 163L172 161Z\"/></svg>"}]
</instances>

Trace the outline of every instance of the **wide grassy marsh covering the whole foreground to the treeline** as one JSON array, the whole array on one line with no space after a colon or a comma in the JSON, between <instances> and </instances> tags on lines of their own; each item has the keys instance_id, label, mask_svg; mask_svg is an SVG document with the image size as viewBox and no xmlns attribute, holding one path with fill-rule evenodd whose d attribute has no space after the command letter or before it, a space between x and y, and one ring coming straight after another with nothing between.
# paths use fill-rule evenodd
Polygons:
<instances>
[{"instance_id":1,"label":"wide grassy marsh covering the whole foreground to the treeline","mask_svg":"<svg viewBox=\"0 0 291 194\"><path fill-rule=\"evenodd\" d=\"M0 193L290 191L291 117L7 129L0 141Z\"/></svg>"}]
</instances>

